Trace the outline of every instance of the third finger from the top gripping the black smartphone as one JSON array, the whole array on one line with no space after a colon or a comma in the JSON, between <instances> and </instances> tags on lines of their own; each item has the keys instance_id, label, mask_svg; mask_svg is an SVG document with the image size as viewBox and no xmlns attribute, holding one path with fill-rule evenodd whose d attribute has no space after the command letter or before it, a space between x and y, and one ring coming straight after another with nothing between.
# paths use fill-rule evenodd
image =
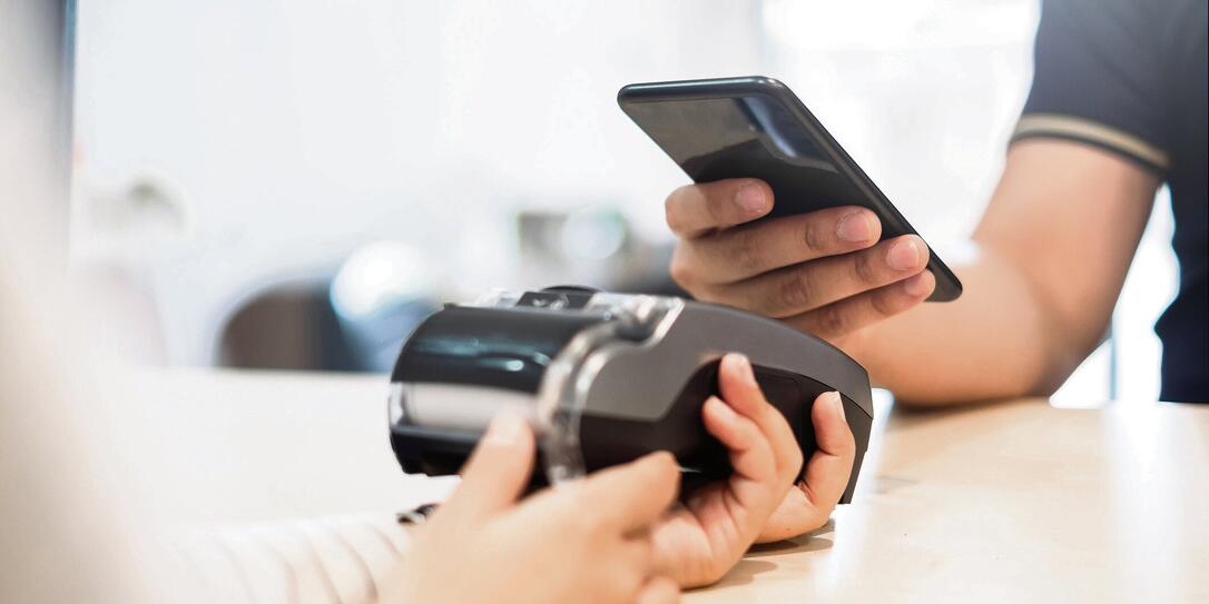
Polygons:
<instances>
[{"instance_id":1,"label":"third finger from the top gripping the black smartphone","mask_svg":"<svg viewBox=\"0 0 1209 604\"><path fill-rule=\"evenodd\" d=\"M705 295L721 303L786 318L908 279L927 267L927 259L924 240L908 234L866 250L762 274L724 290L706 286Z\"/></svg>"}]
</instances>

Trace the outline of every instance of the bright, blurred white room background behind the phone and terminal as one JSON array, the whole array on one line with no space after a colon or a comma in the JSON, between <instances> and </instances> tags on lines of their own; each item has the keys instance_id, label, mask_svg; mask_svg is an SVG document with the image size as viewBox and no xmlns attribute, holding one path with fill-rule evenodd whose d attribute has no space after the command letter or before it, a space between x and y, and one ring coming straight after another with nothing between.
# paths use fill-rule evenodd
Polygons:
<instances>
[{"instance_id":1,"label":"bright, blurred white room background behind the phone and terminal","mask_svg":"<svg viewBox=\"0 0 1209 604\"><path fill-rule=\"evenodd\" d=\"M688 179L617 91L763 74L951 263L1036 19L1035 0L80 2L71 255L138 309L106 327L147 362L388 371L428 312L491 288L667 291L663 199ZM1055 403L1157 397L1170 234L1163 193L1112 337Z\"/></svg>"}]
</instances>

